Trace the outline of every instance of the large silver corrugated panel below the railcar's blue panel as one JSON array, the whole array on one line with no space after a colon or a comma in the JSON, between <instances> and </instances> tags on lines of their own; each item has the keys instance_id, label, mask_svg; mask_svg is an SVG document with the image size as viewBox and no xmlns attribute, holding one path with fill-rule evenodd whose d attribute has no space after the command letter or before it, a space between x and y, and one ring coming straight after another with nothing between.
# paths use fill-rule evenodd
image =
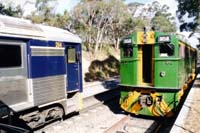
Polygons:
<instances>
[{"instance_id":1,"label":"large silver corrugated panel below the railcar's blue panel","mask_svg":"<svg viewBox=\"0 0 200 133\"><path fill-rule=\"evenodd\" d=\"M41 105L65 98L65 76L49 76L33 79L34 104Z\"/></svg>"}]
</instances>

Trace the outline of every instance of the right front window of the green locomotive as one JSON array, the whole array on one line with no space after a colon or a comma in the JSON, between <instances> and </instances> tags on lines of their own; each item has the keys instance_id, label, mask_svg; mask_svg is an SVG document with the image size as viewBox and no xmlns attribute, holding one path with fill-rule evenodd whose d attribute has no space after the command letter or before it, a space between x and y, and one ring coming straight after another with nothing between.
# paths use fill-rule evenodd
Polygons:
<instances>
[{"instance_id":1,"label":"right front window of the green locomotive","mask_svg":"<svg viewBox=\"0 0 200 133\"><path fill-rule=\"evenodd\" d=\"M159 45L160 56L168 57L174 55L174 45L169 43L163 43Z\"/></svg>"}]
</instances>

